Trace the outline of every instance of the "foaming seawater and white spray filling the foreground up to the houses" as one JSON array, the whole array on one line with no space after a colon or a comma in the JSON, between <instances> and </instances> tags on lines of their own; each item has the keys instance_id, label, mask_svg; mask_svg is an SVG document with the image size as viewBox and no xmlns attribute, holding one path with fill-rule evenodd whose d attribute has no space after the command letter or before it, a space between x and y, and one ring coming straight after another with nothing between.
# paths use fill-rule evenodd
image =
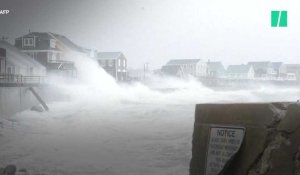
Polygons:
<instances>
[{"instance_id":1,"label":"foaming seawater and white spray filling the foreground up to the houses","mask_svg":"<svg viewBox=\"0 0 300 175\"><path fill-rule=\"evenodd\" d=\"M213 90L192 78L155 75L146 83L118 84L95 60L71 56L78 80L51 80L68 100L50 103L49 112L2 121L0 166L45 174L185 175L196 103L296 101L300 95L298 88L262 85Z\"/></svg>"}]
</instances>

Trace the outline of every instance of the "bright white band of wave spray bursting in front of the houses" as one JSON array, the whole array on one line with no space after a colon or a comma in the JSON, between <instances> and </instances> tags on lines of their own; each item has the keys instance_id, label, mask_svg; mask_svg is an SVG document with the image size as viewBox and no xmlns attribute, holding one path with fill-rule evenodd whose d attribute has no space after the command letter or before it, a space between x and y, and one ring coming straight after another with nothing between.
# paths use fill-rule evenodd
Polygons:
<instances>
[{"instance_id":1,"label":"bright white band of wave spray bursting in front of the houses","mask_svg":"<svg viewBox=\"0 0 300 175\"><path fill-rule=\"evenodd\" d=\"M145 84L118 84L96 60L74 54L70 57L76 60L78 81L70 84L63 81L57 83L55 80L54 84L61 87L72 100L89 102L96 106L122 102L193 105L208 102L296 101L300 98L300 90L295 87L257 84L246 89L222 91L205 87L192 77L177 79L152 75Z\"/></svg>"}]
</instances>

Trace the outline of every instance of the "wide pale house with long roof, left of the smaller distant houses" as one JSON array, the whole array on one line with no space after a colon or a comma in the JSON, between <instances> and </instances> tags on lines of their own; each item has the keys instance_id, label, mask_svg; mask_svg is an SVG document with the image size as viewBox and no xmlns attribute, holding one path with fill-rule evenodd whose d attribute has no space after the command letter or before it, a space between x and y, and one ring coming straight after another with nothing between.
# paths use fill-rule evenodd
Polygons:
<instances>
[{"instance_id":1,"label":"wide pale house with long roof, left of the smaller distant houses","mask_svg":"<svg viewBox=\"0 0 300 175\"><path fill-rule=\"evenodd\" d=\"M162 73L186 77L205 77L207 75L207 62L201 59L177 59L170 60L162 67Z\"/></svg>"}]
</instances>

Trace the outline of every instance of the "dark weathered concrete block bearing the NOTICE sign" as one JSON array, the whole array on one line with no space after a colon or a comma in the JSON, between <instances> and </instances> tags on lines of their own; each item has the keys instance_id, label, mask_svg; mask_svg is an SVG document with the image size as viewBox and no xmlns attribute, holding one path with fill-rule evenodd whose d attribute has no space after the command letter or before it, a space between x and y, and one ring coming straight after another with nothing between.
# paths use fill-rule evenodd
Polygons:
<instances>
[{"instance_id":1,"label":"dark weathered concrete block bearing the NOTICE sign","mask_svg":"<svg viewBox=\"0 0 300 175\"><path fill-rule=\"evenodd\" d=\"M211 164L211 128L245 128L243 143L230 161L221 153ZM236 129L233 129L235 131ZM220 137L221 138L221 137ZM218 139L218 138L213 138ZM222 138L221 138L222 139ZM228 148L223 139L222 148ZM214 150L215 151L215 150ZM222 152L223 151L223 152ZM213 153L214 154L214 153ZM218 154L219 155L219 154ZM214 155L214 157L216 157ZM211 160L211 158L209 159ZM222 160L222 161L221 161ZM219 161L219 160L216 160ZM208 165L210 163L210 165ZM223 168L223 165L225 168ZM300 174L300 106L296 103L201 104L196 106L190 175ZM215 171L206 169L215 168Z\"/></svg>"}]
</instances>

